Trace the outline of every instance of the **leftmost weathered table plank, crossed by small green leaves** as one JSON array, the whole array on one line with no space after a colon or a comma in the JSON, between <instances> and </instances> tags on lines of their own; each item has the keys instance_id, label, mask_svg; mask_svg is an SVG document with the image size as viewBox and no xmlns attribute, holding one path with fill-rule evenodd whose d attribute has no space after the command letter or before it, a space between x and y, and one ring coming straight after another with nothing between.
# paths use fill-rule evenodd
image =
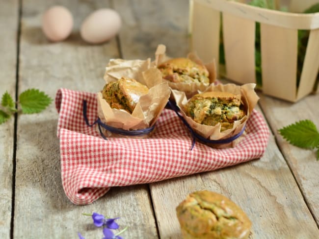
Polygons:
<instances>
[{"instance_id":1,"label":"leftmost weathered table plank, crossed by small green leaves","mask_svg":"<svg viewBox=\"0 0 319 239\"><path fill-rule=\"evenodd\" d=\"M5 91L15 98L18 0L0 0L0 96ZM0 125L0 238L10 238L14 117Z\"/></svg>"}]
</instances>

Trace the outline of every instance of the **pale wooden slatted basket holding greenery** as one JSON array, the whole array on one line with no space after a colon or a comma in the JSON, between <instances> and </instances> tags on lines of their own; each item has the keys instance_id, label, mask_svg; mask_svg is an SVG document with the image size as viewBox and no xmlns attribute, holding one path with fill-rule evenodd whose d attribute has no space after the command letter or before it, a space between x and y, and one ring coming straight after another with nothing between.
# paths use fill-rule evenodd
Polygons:
<instances>
[{"instance_id":1,"label":"pale wooden slatted basket holding greenery","mask_svg":"<svg viewBox=\"0 0 319 239\"><path fill-rule=\"evenodd\" d=\"M290 10L303 11L316 2L291 0ZM292 102L313 92L319 71L319 13L280 12L227 0L190 0L189 16L190 47L204 62L212 58L219 62L222 18L227 78L240 84L256 83L255 23L259 22L262 91ZM310 35L297 87L299 29L310 30Z\"/></svg>"}]
</instances>

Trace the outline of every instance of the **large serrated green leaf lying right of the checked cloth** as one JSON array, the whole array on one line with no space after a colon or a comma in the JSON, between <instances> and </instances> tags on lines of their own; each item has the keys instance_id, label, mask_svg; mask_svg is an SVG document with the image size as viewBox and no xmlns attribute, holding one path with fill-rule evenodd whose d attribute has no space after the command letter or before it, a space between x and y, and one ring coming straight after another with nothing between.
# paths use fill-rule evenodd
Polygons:
<instances>
[{"instance_id":1,"label":"large serrated green leaf lying right of the checked cloth","mask_svg":"<svg viewBox=\"0 0 319 239\"><path fill-rule=\"evenodd\" d=\"M319 147L319 132L309 119L279 129L279 133L292 145L301 148Z\"/></svg>"}]
</instances>

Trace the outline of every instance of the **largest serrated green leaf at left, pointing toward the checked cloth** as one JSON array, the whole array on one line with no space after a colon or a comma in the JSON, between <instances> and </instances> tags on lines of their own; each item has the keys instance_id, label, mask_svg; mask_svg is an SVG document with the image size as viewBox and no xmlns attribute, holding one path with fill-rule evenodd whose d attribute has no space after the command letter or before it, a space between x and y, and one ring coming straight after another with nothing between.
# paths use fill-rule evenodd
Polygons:
<instances>
[{"instance_id":1,"label":"largest serrated green leaf at left, pointing toward the checked cloth","mask_svg":"<svg viewBox=\"0 0 319 239\"><path fill-rule=\"evenodd\" d=\"M21 110L25 114L39 113L51 102L52 98L37 89L28 89L19 96Z\"/></svg>"}]
</instances>

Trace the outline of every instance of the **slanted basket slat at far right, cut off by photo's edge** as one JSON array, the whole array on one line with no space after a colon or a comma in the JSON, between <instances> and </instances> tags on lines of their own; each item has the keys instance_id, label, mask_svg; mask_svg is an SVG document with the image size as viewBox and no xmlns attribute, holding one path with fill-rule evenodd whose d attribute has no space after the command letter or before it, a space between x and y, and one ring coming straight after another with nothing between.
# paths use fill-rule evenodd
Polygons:
<instances>
[{"instance_id":1,"label":"slanted basket slat at far right, cut off by photo's edge","mask_svg":"<svg viewBox=\"0 0 319 239\"><path fill-rule=\"evenodd\" d=\"M311 30L303 62L297 99L313 91L319 70L319 29Z\"/></svg>"}]
</instances>

